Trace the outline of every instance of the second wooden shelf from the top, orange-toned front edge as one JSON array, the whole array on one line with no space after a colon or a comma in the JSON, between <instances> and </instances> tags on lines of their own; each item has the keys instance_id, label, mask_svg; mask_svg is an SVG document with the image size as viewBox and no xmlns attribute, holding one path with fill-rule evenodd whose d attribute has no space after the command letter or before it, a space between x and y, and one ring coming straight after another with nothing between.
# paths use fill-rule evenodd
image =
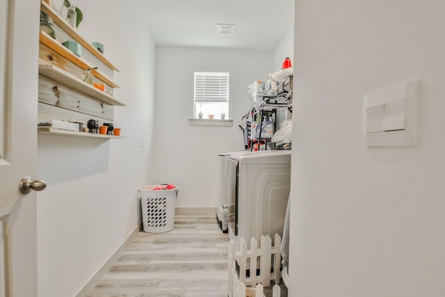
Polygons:
<instances>
[{"instance_id":1,"label":"second wooden shelf from the top, orange-toned front edge","mask_svg":"<svg viewBox=\"0 0 445 297\"><path fill-rule=\"evenodd\" d=\"M46 45L47 47L49 47L49 49L56 51L57 54L63 56L68 61L81 67L83 70L96 67L95 65L92 65L90 62L86 61L84 58L76 56L76 54L70 51L70 49L67 49L64 45L62 45L54 38L51 38L51 36L43 31L40 31L40 43L42 43L42 45ZM108 86L111 86L112 88L119 88L119 86L115 84L114 81L106 77L106 75L99 70L91 70L91 73L101 81L104 81L104 83L106 83Z\"/></svg>"}]
</instances>

